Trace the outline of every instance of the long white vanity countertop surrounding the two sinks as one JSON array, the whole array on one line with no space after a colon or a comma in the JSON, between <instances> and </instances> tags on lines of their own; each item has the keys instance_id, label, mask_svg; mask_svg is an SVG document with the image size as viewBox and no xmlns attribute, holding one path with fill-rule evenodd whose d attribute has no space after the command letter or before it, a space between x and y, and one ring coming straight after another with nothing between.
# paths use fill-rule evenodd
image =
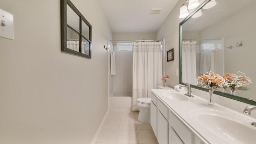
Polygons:
<instances>
[{"instance_id":1,"label":"long white vanity countertop surrounding the two sinks","mask_svg":"<svg viewBox=\"0 0 256 144\"><path fill-rule=\"evenodd\" d=\"M170 108L170 110L182 121L194 134L196 134L199 138L201 138L205 143L210 144L230 144L230 141L225 140L225 138L220 138L220 136L217 136L212 132L208 127L203 126L198 122L198 115L196 114L197 110L199 109L206 109L206 110L213 110L216 112L224 112L228 116L228 114L232 114L238 117L246 118L250 120L251 122L256 122L254 118L251 118L247 114L243 114L242 112L236 112L233 110L230 110L228 108L225 108L223 106L220 106L218 104L215 104L214 106L208 106L207 100L204 100L198 96L194 95L194 98L190 98L187 96L188 100L181 101L181 100L172 100L170 98L166 98L160 94L163 90L170 90L175 91L172 88L168 89L151 89L151 92L153 92L154 95L156 95L164 104ZM187 92L177 92L179 94L185 94ZM253 126L248 123L248 127ZM252 134L252 136L256 136L256 127L255 127L255 134ZM230 138L230 137L229 137ZM233 139L233 138L231 138ZM234 142L232 144L242 144L243 142L234 139Z\"/></svg>"}]
</instances>

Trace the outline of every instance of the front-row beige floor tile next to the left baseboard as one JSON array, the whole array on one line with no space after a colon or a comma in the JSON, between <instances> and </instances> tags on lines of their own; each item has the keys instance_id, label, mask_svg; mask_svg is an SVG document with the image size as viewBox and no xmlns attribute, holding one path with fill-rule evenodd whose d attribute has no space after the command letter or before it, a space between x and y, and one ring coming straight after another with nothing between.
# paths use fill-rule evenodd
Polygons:
<instances>
[{"instance_id":1,"label":"front-row beige floor tile next to the left baseboard","mask_svg":"<svg viewBox=\"0 0 256 144\"><path fill-rule=\"evenodd\" d=\"M119 129L102 129L96 142L116 143Z\"/></svg>"}]
</instances>

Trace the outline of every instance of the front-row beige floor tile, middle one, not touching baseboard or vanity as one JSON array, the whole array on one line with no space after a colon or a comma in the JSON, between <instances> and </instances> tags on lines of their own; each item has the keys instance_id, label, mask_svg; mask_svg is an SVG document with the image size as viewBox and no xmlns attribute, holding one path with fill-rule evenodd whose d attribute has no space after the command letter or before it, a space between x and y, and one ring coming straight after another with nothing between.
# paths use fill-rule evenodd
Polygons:
<instances>
[{"instance_id":1,"label":"front-row beige floor tile, middle one, not touching baseboard or vanity","mask_svg":"<svg viewBox=\"0 0 256 144\"><path fill-rule=\"evenodd\" d=\"M138 143L136 130L120 129L118 134L118 143Z\"/></svg>"}]
</instances>

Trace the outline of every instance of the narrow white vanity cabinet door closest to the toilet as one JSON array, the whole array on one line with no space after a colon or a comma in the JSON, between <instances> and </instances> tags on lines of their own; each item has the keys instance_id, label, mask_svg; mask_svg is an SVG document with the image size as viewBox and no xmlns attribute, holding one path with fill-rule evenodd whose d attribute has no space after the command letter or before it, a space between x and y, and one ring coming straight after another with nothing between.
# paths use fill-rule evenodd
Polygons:
<instances>
[{"instance_id":1,"label":"narrow white vanity cabinet door closest to the toilet","mask_svg":"<svg viewBox=\"0 0 256 144\"><path fill-rule=\"evenodd\" d=\"M150 124L155 135L157 136L157 107L152 101L150 103Z\"/></svg>"}]
</instances>

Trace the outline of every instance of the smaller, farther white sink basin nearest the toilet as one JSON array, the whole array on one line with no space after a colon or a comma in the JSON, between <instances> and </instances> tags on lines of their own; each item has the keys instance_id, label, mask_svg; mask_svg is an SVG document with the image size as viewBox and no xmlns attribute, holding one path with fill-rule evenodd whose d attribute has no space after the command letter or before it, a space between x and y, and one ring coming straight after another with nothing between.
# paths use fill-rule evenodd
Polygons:
<instances>
[{"instance_id":1,"label":"smaller, farther white sink basin nearest the toilet","mask_svg":"<svg viewBox=\"0 0 256 144\"><path fill-rule=\"evenodd\" d=\"M184 94L179 94L178 92L172 90L163 90L160 91L160 94L171 100L188 100L187 96L185 96Z\"/></svg>"}]
</instances>

